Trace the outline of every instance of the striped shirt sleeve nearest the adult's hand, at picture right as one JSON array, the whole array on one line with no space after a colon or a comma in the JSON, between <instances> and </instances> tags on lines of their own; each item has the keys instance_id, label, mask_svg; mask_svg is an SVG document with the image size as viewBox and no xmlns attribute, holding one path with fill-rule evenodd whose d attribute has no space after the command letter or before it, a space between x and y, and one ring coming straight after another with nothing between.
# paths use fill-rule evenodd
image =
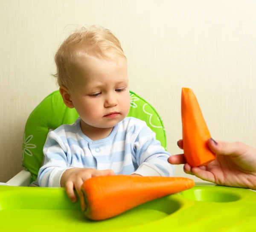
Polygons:
<instances>
[{"instance_id":1,"label":"striped shirt sleeve nearest the adult's hand, at picture right","mask_svg":"<svg viewBox=\"0 0 256 232\"><path fill-rule=\"evenodd\" d=\"M160 141L155 137L155 133L142 122L142 127L134 141L134 154L139 168L134 174L142 176L174 176L174 165L167 159L171 156L161 146Z\"/></svg>"}]
</instances>

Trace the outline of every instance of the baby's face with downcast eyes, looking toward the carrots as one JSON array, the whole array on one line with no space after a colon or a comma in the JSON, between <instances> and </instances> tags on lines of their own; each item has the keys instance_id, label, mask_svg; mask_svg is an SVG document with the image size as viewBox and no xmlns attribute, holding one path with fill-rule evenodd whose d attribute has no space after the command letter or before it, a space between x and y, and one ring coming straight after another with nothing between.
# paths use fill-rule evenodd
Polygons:
<instances>
[{"instance_id":1,"label":"baby's face with downcast eyes, looking toward the carrots","mask_svg":"<svg viewBox=\"0 0 256 232\"><path fill-rule=\"evenodd\" d=\"M71 100L85 124L111 128L127 116L130 93L125 58L79 58L73 84Z\"/></svg>"}]
</instances>

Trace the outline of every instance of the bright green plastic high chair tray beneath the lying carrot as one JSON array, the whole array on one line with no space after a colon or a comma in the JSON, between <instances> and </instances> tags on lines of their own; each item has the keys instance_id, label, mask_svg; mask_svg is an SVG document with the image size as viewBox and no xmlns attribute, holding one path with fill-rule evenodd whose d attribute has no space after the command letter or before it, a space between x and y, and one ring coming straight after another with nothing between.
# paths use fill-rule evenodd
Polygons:
<instances>
[{"instance_id":1,"label":"bright green plastic high chair tray beneath the lying carrot","mask_svg":"<svg viewBox=\"0 0 256 232\"><path fill-rule=\"evenodd\" d=\"M0 186L0 231L256 231L256 192L241 188L195 186L99 222L79 204L64 188Z\"/></svg>"}]
</instances>

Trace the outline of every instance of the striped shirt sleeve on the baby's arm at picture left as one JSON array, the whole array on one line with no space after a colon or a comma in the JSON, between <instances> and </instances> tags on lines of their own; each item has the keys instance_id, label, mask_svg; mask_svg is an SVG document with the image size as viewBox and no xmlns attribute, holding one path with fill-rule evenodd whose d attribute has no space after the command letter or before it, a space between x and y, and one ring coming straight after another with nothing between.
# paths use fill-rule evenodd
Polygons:
<instances>
[{"instance_id":1,"label":"striped shirt sleeve on the baby's arm at picture left","mask_svg":"<svg viewBox=\"0 0 256 232\"><path fill-rule=\"evenodd\" d=\"M68 169L67 148L54 132L48 133L44 148L44 164L38 172L41 187L61 187L61 176Z\"/></svg>"}]
</instances>

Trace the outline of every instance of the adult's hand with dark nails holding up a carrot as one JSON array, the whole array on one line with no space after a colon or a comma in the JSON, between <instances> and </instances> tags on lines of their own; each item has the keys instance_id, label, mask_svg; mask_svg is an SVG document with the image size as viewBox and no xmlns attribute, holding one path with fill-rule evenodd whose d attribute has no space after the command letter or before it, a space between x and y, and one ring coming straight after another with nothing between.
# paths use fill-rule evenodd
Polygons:
<instances>
[{"instance_id":1,"label":"adult's hand with dark nails holding up a carrot","mask_svg":"<svg viewBox=\"0 0 256 232\"><path fill-rule=\"evenodd\" d=\"M217 185L250 188L256 190L256 149L242 142L221 142L209 139L208 146L216 159L207 166L191 168L184 154L169 157L171 164L185 164L187 174ZM183 149L183 141L178 141Z\"/></svg>"}]
</instances>

